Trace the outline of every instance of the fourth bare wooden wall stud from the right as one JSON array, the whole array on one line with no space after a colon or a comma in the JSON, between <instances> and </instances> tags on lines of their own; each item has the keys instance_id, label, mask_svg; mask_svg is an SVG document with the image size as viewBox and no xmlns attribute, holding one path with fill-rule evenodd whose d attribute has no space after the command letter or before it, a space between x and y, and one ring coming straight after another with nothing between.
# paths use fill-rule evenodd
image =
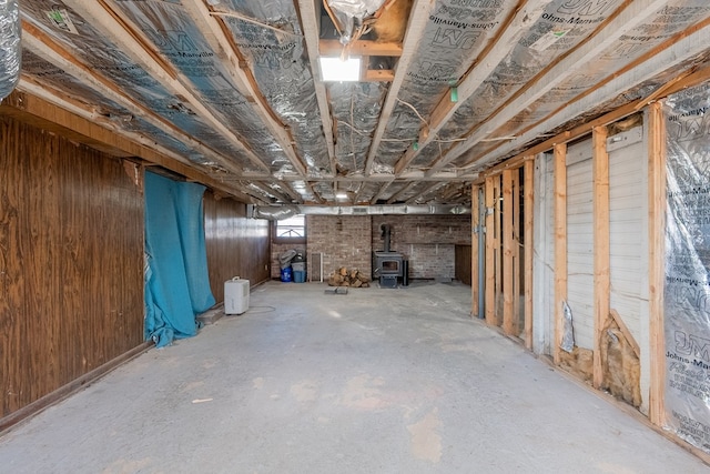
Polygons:
<instances>
[{"instance_id":1,"label":"fourth bare wooden wall stud from the right","mask_svg":"<svg viewBox=\"0 0 710 474\"><path fill-rule=\"evenodd\" d=\"M513 173L518 170L505 170L503 172L503 331L513 335L515 323L513 321L513 294L514 290L514 234L513 222L515 210L513 206Z\"/></svg>"}]
</instances>

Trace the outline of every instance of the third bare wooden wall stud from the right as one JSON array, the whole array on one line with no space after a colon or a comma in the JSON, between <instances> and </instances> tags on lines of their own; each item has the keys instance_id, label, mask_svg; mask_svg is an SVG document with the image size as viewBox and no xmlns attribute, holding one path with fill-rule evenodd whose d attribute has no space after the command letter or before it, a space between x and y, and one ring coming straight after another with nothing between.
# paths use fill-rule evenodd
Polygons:
<instances>
[{"instance_id":1,"label":"third bare wooden wall stud from the right","mask_svg":"<svg viewBox=\"0 0 710 474\"><path fill-rule=\"evenodd\" d=\"M552 359L559 364L562 343L562 302L567 300L567 144L555 145L555 341Z\"/></svg>"}]
</instances>

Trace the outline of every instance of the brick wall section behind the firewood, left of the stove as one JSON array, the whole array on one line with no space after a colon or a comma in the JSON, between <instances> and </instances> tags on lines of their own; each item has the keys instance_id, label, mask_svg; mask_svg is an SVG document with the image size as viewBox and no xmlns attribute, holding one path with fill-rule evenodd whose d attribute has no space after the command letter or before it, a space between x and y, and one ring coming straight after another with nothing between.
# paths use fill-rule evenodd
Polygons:
<instances>
[{"instance_id":1,"label":"brick wall section behind the firewood, left of the stove","mask_svg":"<svg viewBox=\"0 0 710 474\"><path fill-rule=\"evenodd\" d=\"M307 253L323 252L323 280L341 266L371 275L372 232L369 215L306 215Z\"/></svg>"}]
</instances>

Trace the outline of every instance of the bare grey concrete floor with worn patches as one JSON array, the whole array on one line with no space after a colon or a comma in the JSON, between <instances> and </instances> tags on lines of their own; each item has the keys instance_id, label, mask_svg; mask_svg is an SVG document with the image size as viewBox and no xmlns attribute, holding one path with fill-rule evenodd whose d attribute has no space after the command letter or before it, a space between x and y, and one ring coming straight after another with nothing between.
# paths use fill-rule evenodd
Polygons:
<instances>
[{"instance_id":1,"label":"bare grey concrete floor with worn patches","mask_svg":"<svg viewBox=\"0 0 710 474\"><path fill-rule=\"evenodd\" d=\"M0 472L708 472L471 321L468 286L326 289L254 289L6 434Z\"/></svg>"}]
</instances>

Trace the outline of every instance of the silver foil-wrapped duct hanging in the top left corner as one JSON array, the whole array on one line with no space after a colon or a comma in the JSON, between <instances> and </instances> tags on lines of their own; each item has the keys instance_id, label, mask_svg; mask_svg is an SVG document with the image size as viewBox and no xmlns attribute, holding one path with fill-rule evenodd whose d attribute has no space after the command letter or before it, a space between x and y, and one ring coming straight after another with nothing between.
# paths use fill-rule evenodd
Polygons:
<instances>
[{"instance_id":1,"label":"silver foil-wrapped duct hanging in the top left corner","mask_svg":"<svg viewBox=\"0 0 710 474\"><path fill-rule=\"evenodd\" d=\"M20 8L17 0L0 0L0 100L20 80Z\"/></svg>"}]
</instances>

